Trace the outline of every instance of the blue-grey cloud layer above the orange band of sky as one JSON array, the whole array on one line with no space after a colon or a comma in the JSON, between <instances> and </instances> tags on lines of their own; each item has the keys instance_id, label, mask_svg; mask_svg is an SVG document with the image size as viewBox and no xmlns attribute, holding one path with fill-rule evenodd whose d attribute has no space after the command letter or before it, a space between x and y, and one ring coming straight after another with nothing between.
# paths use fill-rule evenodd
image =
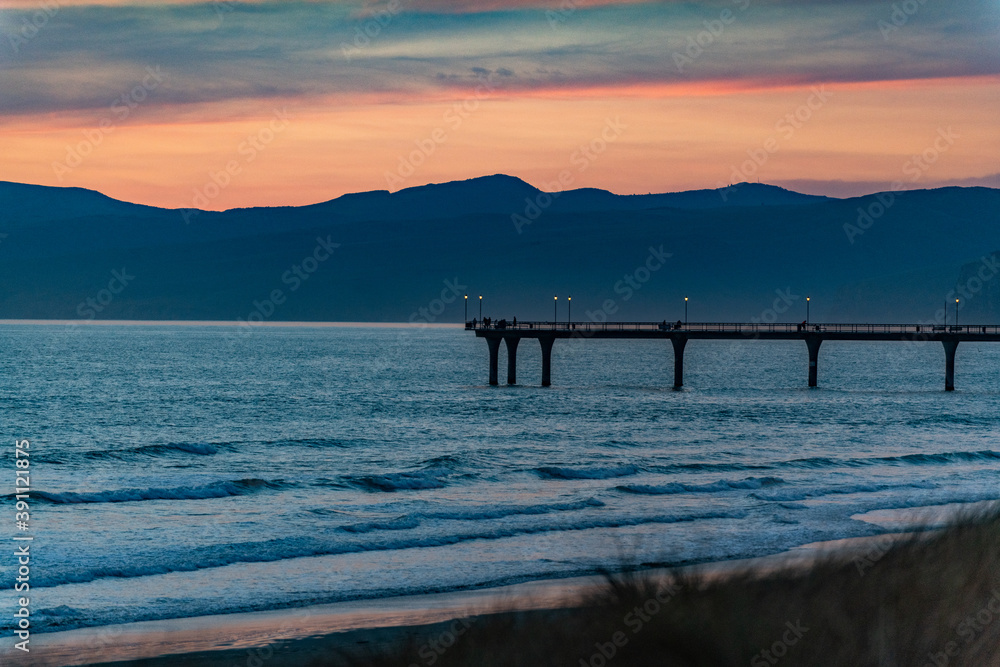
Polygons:
<instances>
[{"instance_id":1,"label":"blue-grey cloud layer above the orange band of sky","mask_svg":"<svg viewBox=\"0 0 1000 667\"><path fill-rule=\"evenodd\" d=\"M0 12L6 115L105 108L147 67L166 74L156 96L166 106L433 99L469 94L491 75L500 91L529 95L1000 75L1000 6L988 0L921 5L888 36L879 22L891 8L860 0L63 0L30 38L25 21L39 5L13 6Z\"/></svg>"}]
</instances>

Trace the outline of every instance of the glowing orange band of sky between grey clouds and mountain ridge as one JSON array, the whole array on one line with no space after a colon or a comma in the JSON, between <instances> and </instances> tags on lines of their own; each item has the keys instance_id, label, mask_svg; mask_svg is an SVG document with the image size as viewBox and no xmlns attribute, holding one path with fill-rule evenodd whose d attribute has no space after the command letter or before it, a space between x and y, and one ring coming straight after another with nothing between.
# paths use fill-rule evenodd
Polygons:
<instances>
[{"instance_id":1,"label":"glowing orange band of sky between grey clouds and mountain ridge","mask_svg":"<svg viewBox=\"0 0 1000 667\"><path fill-rule=\"evenodd\" d=\"M492 173L551 189L566 172L566 187L645 193L725 185L772 139L777 150L746 180L890 183L904 178L907 160L949 127L959 139L915 185L996 171L995 78L829 89L830 99L808 114L800 111L808 108L808 86L685 95L590 90L562 99L532 94L393 104L290 99L256 113L242 103L220 103L200 115L137 117L116 127L62 180L53 165L85 145L88 132L94 136L94 119L21 116L0 125L0 179L211 209L309 204L347 192ZM272 107L281 106L289 123L269 132ZM796 112L808 118L780 126ZM624 126L613 138L605 131L609 122Z\"/></svg>"}]
</instances>

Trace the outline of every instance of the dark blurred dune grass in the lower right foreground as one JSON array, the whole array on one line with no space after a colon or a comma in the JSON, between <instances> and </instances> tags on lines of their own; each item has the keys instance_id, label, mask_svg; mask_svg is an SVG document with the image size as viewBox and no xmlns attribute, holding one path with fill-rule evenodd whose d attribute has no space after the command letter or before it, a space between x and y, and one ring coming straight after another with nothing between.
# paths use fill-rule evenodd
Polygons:
<instances>
[{"instance_id":1,"label":"dark blurred dune grass in the lower right foreground","mask_svg":"<svg viewBox=\"0 0 1000 667\"><path fill-rule=\"evenodd\" d=\"M864 553L709 576L608 574L570 608L424 628L353 666L1000 666L1000 511Z\"/></svg>"}]
</instances>

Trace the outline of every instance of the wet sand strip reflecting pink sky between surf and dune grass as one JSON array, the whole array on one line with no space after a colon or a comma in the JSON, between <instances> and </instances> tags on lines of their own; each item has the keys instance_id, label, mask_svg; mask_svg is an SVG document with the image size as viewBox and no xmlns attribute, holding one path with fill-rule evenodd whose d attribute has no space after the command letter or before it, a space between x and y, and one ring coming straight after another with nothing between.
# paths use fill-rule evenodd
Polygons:
<instances>
[{"instance_id":1,"label":"wet sand strip reflecting pink sky between surf and dune grass","mask_svg":"<svg viewBox=\"0 0 1000 667\"><path fill-rule=\"evenodd\" d=\"M745 572L807 567L828 556L878 553L907 533L815 542L790 550L731 561L677 568L709 578ZM643 570L663 574L666 569ZM11 665L77 667L79 665L170 665L183 656L184 665L243 665L272 655L268 664L305 664L347 648L374 647L406 637L420 638L447 630L456 619L505 612L552 612L576 607L598 590L601 575L540 579L507 586L446 593L429 593L371 600L336 602L268 611L194 616L121 625L94 626L41 633L32 637L30 653L12 647L0 650ZM6 642L5 642L6 644ZM278 660L278 654L284 656ZM152 662L151 662L152 661ZM249 667L252 667L250 665Z\"/></svg>"}]
</instances>

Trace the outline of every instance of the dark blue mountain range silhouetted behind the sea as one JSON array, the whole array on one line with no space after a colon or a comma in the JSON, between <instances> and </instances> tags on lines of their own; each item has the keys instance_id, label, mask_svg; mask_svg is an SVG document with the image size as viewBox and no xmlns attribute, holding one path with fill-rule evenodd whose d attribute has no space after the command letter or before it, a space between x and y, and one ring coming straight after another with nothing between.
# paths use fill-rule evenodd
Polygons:
<instances>
[{"instance_id":1,"label":"dark blue mountain range silhouetted behind the sea","mask_svg":"<svg viewBox=\"0 0 1000 667\"><path fill-rule=\"evenodd\" d=\"M0 319L1000 321L1000 190L615 195L511 176L210 212L0 182ZM559 296L554 300L553 296Z\"/></svg>"}]
</instances>

